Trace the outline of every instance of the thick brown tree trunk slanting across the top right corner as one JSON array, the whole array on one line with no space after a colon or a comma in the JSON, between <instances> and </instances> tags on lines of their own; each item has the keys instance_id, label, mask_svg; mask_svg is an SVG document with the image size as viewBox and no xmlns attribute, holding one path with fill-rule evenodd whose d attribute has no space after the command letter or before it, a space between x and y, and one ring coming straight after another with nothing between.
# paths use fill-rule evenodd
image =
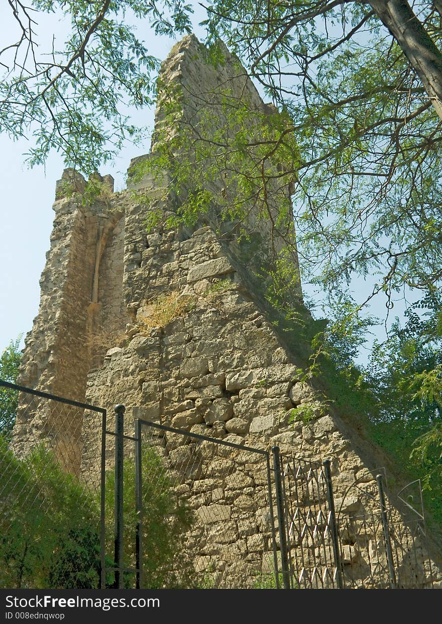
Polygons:
<instances>
[{"instance_id":1,"label":"thick brown tree trunk slanting across the top right corner","mask_svg":"<svg viewBox=\"0 0 442 624\"><path fill-rule=\"evenodd\" d=\"M442 120L442 54L407 0L368 0L421 79Z\"/></svg>"}]
</instances>

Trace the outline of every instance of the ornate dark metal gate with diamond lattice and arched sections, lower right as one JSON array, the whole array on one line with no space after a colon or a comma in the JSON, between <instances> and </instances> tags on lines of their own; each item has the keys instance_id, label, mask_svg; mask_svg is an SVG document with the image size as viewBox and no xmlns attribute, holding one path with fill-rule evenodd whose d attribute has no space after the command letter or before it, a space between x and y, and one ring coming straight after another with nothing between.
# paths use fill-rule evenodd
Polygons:
<instances>
[{"instance_id":1,"label":"ornate dark metal gate with diamond lattice and arched sections, lower right","mask_svg":"<svg viewBox=\"0 0 442 624\"><path fill-rule=\"evenodd\" d=\"M420 482L387 497L385 470L366 472L335 500L330 460L282 457L280 552L291 588L433 588L441 582L426 538Z\"/></svg>"}]
</instances>

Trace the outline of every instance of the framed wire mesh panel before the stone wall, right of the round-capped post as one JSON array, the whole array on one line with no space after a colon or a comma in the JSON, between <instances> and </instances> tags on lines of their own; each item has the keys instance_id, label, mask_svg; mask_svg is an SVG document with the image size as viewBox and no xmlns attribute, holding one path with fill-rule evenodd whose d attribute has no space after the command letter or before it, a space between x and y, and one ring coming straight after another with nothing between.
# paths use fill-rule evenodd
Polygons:
<instances>
[{"instance_id":1,"label":"framed wire mesh panel before the stone wall, right of the round-capped post","mask_svg":"<svg viewBox=\"0 0 442 624\"><path fill-rule=\"evenodd\" d=\"M277 587L268 453L138 427L140 587Z\"/></svg>"}]
</instances>

